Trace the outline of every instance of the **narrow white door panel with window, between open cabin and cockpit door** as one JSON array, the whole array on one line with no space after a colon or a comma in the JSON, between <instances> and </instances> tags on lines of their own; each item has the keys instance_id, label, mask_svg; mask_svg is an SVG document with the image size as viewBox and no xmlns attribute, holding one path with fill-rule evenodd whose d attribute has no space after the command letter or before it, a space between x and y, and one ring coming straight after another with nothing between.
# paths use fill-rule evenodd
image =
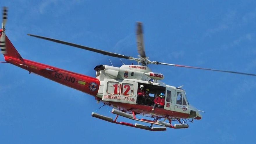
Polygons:
<instances>
[{"instance_id":1,"label":"narrow white door panel with window, between open cabin and cockpit door","mask_svg":"<svg viewBox=\"0 0 256 144\"><path fill-rule=\"evenodd\" d=\"M166 87L164 109L174 111L175 89Z\"/></svg>"}]
</instances>

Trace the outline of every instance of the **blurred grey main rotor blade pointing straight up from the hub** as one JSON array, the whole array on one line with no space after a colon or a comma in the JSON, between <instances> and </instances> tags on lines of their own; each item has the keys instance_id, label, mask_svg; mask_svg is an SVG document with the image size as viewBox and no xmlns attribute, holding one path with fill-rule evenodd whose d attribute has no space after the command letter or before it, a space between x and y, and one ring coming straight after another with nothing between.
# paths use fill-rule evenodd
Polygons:
<instances>
[{"instance_id":1,"label":"blurred grey main rotor blade pointing straight up from the hub","mask_svg":"<svg viewBox=\"0 0 256 144\"><path fill-rule=\"evenodd\" d=\"M137 35L137 50L138 50L138 53L141 55L141 57L145 58L146 54L145 54L145 49L144 49L142 23L141 22L137 22L136 35Z\"/></svg>"}]
</instances>

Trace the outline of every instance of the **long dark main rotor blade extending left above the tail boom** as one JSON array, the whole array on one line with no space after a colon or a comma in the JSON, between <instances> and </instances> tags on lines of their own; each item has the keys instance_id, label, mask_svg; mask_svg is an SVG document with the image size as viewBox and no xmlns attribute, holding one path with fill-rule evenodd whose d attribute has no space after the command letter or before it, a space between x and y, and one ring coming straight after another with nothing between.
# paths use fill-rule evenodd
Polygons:
<instances>
[{"instance_id":1,"label":"long dark main rotor blade extending left above the tail boom","mask_svg":"<svg viewBox=\"0 0 256 144\"><path fill-rule=\"evenodd\" d=\"M117 58L126 58L126 59L130 58L130 56L125 56L125 55L122 55L122 54L116 54L116 53L112 53L112 52L109 52L109 51L103 51L103 50L95 49L95 48L92 48L92 47L77 45L77 44L74 44L74 43L65 42L65 41L61 41L61 40L56 40L56 39L53 39L53 38L47 38L47 37L42 37L42 36L39 36L39 35L32 35L32 34L27 34L27 35L30 35L30 36L33 36L33 37L36 37L36 38L42 38L42 39L45 39L45 40L50 40L50 41L61 43L61 44L64 44L64 45L70 45L72 47L78 47L80 49L85 49L85 50L88 50L88 51L93 51L93 52L97 52L97 53L108 55L108 56L113 56L113 57L117 57Z\"/></svg>"}]
</instances>

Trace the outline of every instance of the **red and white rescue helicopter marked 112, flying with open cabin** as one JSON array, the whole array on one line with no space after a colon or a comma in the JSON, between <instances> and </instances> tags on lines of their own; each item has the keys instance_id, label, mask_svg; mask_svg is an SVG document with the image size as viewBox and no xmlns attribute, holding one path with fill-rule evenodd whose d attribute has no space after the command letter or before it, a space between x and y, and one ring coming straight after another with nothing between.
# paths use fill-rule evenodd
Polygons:
<instances>
[{"instance_id":1,"label":"red and white rescue helicopter marked 112, flying with open cabin","mask_svg":"<svg viewBox=\"0 0 256 144\"><path fill-rule=\"evenodd\" d=\"M84 74L63 70L57 67L22 58L22 56L18 53L18 51L15 49L15 47L5 34L7 12L7 7L3 7L2 29L0 29L0 47L6 61L5 63L13 64L29 71L29 73L38 74L42 77L51 79L63 85L92 95L93 97L95 97L97 103L103 102L104 105L113 107L111 113L115 114L116 117L113 119L111 117L100 115L95 112L93 112L91 115L95 118L99 118L118 125L125 125L150 131L165 131L167 127L174 129L188 128L188 122L193 122L194 119L202 119L202 115L200 112L203 111L200 111L197 108L193 107L191 104L189 104L186 98L186 91L182 88L182 86L175 87L163 83L161 80L164 79L164 75L159 72L152 72L152 70L148 67L148 65L150 64L170 65L176 67L187 67L256 76L255 74L248 74L242 72L216 70L162 63L158 61L150 61L149 57L147 57L145 54L141 22L137 22L136 31L137 51L139 54L138 58L77 45L52 38L42 37L39 35L28 34L36 38L78 47L107 56L124 58L131 61L136 61L137 63L137 65L124 64L121 67L114 67L113 65L97 65L94 68L94 70L96 71L96 76L90 77ZM151 99L151 101L157 98L161 93L164 93L165 97L163 108L156 107L154 111L152 111L152 104L142 104L138 102L138 91L141 85L143 85L145 88L150 89L149 98ZM150 124L150 126L138 123L131 124L128 122L118 122L117 119L119 115L138 122L148 123ZM139 119L136 118L136 115L153 118L154 120L148 120L143 118ZM173 124L174 122L177 122L177 124ZM156 125L158 127L153 127L153 125Z\"/></svg>"}]
</instances>

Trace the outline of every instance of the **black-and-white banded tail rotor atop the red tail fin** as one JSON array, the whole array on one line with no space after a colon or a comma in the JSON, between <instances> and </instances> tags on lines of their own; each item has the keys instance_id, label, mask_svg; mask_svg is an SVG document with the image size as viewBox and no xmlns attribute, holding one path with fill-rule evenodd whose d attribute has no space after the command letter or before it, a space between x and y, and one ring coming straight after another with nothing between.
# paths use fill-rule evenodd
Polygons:
<instances>
[{"instance_id":1,"label":"black-and-white banded tail rotor atop the red tail fin","mask_svg":"<svg viewBox=\"0 0 256 144\"><path fill-rule=\"evenodd\" d=\"M7 21L7 7L3 7L3 19L2 19L2 29L0 29L1 37L0 37L0 47L1 53L6 54L6 45L5 45L5 23Z\"/></svg>"}]
</instances>

